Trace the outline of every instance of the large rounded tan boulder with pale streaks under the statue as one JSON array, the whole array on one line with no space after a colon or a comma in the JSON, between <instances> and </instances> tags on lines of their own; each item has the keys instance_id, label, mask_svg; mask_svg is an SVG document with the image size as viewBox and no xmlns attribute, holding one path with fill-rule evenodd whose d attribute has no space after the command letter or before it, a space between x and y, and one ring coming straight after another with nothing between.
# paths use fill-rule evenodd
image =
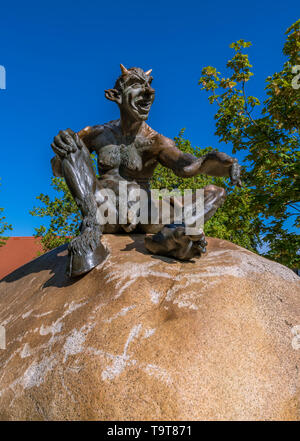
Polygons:
<instances>
[{"instance_id":1,"label":"large rounded tan boulder with pale streaks under the statue","mask_svg":"<svg viewBox=\"0 0 300 441\"><path fill-rule=\"evenodd\" d=\"M0 419L300 420L298 276L218 239L194 263L104 241L74 283L65 247L0 282Z\"/></svg>"}]
</instances>

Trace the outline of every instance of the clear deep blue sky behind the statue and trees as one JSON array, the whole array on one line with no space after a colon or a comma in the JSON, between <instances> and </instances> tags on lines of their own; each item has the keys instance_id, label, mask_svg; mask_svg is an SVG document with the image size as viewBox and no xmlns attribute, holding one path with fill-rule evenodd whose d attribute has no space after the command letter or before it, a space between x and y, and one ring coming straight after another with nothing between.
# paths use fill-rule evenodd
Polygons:
<instances>
[{"instance_id":1,"label":"clear deep blue sky behind the statue and trees","mask_svg":"<svg viewBox=\"0 0 300 441\"><path fill-rule=\"evenodd\" d=\"M0 8L0 206L13 236L33 235L29 215L50 188L50 143L60 129L118 118L104 98L119 64L153 69L156 100L148 123L174 137L183 127L193 145L217 145L213 106L197 85L203 66L224 71L229 44L253 43L248 91L263 96L280 70L285 30L299 18L296 1L11 1Z\"/></svg>"}]
</instances>

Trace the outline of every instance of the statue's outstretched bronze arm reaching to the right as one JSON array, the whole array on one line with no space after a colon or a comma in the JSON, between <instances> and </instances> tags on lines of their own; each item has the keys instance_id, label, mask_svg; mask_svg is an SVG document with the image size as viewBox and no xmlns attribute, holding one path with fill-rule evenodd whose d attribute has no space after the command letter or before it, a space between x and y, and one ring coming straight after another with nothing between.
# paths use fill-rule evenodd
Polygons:
<instances>
[{"instance_id":1,"label":"statue's outstretched bronze arm reaching to the right","mask_svg":"<svg viewBox=\"0 0 300 441\"><path fill-rule=\"evenodd\" d=\"M237 161L226 153L212 151L196 158L179 150L174 141L162 135L158 137L158 162L182 178L205 174L209 176L231 176L231 167Z\"/></svg>"}]
</instances>

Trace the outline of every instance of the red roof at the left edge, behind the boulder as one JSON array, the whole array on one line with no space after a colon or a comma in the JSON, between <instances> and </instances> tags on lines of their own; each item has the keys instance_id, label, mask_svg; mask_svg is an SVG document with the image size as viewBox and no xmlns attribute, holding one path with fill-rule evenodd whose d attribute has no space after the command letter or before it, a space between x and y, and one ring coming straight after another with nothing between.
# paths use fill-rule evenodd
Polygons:
<instances>
[{"instance_id":1,"label":"red roof at the left edge, behind the boulder","mask_svg":"<svg viewBox=\"0 0 300 441\"><path fill-rule=\"evenodd\" d=\"M42 252L41 240L36 237L10 237L0 247L0 280Z\"/></svg>"}]
</instances>

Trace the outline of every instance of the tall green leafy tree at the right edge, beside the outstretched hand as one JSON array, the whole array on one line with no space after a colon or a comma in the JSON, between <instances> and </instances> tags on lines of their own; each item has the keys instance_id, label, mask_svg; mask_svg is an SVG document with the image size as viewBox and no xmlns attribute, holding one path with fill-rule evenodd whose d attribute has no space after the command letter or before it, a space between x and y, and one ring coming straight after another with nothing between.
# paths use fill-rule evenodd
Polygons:
<instances>
[{"instance_id":1,"label":"tall green leafy tree at the right edge, beside the outstretched hand","mask_svg":"<svg viewBox=\"0 0 300 441\"><path fill-rule=\"evenodd\" d=\"M259 234L268 247L265 255L297 267L300 89L293 82L293 66L300 65L300 20L286 34L283 53L288 59L280 72L266 79L267 97L262 104L246 95L253 73L248 55L243 53L251 43L244 40L230 45L235 54L227 63L228 77L208 66L203 68L199 84L209 92L210 103L217 106L216 135L220 141L232 144L234 153L246 153L243 179L249 189L249 214L259 220Z\"/></svg>"}]
</instances>

